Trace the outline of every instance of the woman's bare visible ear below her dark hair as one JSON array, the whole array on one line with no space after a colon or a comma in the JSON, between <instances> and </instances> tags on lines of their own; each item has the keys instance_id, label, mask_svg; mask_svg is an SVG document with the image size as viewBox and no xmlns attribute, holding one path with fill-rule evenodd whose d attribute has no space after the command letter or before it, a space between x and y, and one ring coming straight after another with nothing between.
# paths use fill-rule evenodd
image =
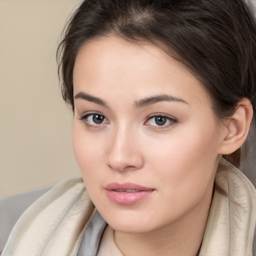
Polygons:
<instances>
[{"instance_id":1,"label":"woman's bare visible ear below her dark hair","mask_svg":"<svg viewBox=\"0 0 256 256\"><path fill-rule=\"evenodd\" d=\"M243 144L249 131L252 115L253 110L249 99L241 99L233 115L224 123L219 154L230 154Z\"/></svg>"}]
</instances>

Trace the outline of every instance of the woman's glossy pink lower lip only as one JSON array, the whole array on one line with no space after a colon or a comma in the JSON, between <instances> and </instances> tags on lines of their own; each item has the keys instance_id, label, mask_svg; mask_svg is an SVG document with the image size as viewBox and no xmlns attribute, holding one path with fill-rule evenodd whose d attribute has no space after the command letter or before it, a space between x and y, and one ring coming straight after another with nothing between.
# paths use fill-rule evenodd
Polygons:
<instances>
[{"instance_id":1,"label":"woman's glossy pink lower lip only","mask_svg":"<svg viewBox=\"0 0 256 256\"><path fill-rule=\"evenodd\" d=\"M106 196L114 203L121 205L135 204L152 194L154 190L141 190L137 192L118 192L105 189Z\"/></svg>"}]
</instances>

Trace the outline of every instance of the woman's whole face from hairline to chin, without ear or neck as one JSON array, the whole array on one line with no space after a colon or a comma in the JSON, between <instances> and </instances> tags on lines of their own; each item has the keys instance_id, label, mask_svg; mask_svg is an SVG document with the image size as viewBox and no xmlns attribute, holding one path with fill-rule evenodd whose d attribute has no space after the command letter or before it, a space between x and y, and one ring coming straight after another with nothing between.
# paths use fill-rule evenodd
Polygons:
<instances>
[{"instance_id":1,"label":"woman's whole face from hairline to chin, without ear or neck","mask_svg":"<svg viewBox=\"0 0 256 256\"><path fill-rule=\"evenodd\" d=\"M209 204L223 132L186 68L156 46L105 37L78 52L73 86L74 153L114 229L154 230Z\"/></svg>"}]
</instances>

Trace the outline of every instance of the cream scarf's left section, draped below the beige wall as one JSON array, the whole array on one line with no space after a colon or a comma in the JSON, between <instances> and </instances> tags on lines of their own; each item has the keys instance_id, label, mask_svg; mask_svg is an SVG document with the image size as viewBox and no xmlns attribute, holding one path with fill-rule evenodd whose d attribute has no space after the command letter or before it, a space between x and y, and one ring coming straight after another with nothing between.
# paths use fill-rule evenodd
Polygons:
<instances>
[{"instance_id":1,"label":"cream scarf's left section, draped below the beige wall","mask_svg":"<svg viewBox=\"0 0 256 256\"><path fill-rule=\"evenodd\" d=\"M14 256L26 251L29 255L71 255L78 249L95 211L82 178L68 179L25 210L11 230L2 254Z\"/></svg>"}]
</instances>

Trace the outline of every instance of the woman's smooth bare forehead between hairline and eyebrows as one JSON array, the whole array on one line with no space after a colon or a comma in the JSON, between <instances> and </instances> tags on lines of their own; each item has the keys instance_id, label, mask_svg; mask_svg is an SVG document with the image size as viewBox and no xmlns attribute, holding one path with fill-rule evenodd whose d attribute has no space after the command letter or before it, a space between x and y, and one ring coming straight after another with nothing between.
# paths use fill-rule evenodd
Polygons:
<instances>
[{"instance_id":1,"label":"woman's smooth bare forehead between hairline and eyebrows","mask_svg":"<svg viewBox=\"0 0 256 256\"><path fill-rule=\"evenodd\" d=\"M208 103L201 83L180 62L152 44L134 44L118 37L87 42L73 70L74 94L80 91L106 97L170 93Z\"/></svg>"}]
</instances>

